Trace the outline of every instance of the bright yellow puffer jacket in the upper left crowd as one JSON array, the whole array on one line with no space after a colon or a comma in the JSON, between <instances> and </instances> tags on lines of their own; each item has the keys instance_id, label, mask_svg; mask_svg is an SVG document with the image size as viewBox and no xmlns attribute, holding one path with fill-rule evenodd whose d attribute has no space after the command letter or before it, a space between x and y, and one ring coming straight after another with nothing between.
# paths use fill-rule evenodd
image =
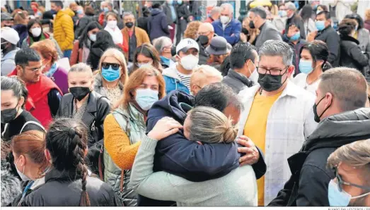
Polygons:
<instances>
[{"instance_id":1,"label":"bright yellow puffer jacket in the upper left crowd","mask_svg":"<svg viewBox=\"0 0 370 210\"><path fill-rule=\"evenodd\" d=\"M59 11L54 20L54 39L62 51L73 49L74 22L65 11Z\"/></svg>"}]
</instances>

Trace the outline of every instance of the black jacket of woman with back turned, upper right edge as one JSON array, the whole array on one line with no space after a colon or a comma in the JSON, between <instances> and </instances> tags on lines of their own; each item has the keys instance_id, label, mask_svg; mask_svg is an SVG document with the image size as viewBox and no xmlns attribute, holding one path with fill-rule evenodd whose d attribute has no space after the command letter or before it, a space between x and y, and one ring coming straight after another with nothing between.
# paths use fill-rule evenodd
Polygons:
<instances>
[{"instance_id":1,"label":"black jacket of woman with back turned, upper right edge","mask_svg":"<svg viewBox=\"0 0 370 210\"><path fill-rule=\"evenodd\" d=\"M354 37L340 35L340 52L340 66L364 72L364 67L369 65L369 58L362 53L359 41Z\"/></svg>"}]
</instances>

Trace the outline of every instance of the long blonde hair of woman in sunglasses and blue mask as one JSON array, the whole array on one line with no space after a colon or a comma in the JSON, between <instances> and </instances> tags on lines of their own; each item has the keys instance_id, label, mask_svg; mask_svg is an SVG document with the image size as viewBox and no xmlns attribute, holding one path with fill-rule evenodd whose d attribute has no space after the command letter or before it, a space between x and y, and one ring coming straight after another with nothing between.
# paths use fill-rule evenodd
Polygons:
<instances>
[{"instance_id":1,"label":"long blonde hair of woman in sunglasses and blue mask","mask_svg":"<svg viewBox=\"0 0 370 210\"><path fill-rule=\"evenodd\" d=\"M122 66L120 82L122 83L122 85L125 85L127 81L129 80L129 74L127 73L127 64L126 64L125 55L122 54L122 52L119 51L118 49L110 48L110 49L107 49L103 53L103 56L100 57L98 70L96 70L95 74L98 74L98 73L101 74L101 65L104 62L105 58L107 57L116 58L117 61L120 63L120 66ZM102 82L103 82L103 85L105 85L105 79L103 77L102 77Z\"/></svg>"}]
</instances>

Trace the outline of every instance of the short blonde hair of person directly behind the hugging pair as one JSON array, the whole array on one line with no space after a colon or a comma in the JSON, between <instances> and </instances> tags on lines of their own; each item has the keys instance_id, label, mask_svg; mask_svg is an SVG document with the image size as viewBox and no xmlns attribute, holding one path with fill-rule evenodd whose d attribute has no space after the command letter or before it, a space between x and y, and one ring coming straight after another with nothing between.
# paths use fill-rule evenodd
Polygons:
<instances>
[{"instance_id":1,"label":"short blonde hair of person directly behind the hugging pair","mask_svg":"<svg viewBox=\"0 0 370 210\"><path fill-rule=\"evenodd\" d=\"M192 76L190 78L190 87L197 83L198 85L203 85L203 82L208 80L209 78L219 78L220 82L222 80L222 75L219 70L212 66L202 65L195 68L192 72Z\"/></svg>"}]
</instances>

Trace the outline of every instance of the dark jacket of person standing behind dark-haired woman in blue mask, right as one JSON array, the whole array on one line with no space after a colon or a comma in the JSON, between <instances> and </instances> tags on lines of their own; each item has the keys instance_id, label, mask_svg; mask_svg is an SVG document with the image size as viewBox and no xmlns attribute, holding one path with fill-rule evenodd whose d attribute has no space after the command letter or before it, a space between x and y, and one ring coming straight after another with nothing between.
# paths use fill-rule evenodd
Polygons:
<instances>
[{"instance_id":1,"label":"dark jacket of person standing behind dark-haired woman in blue mask, right","mask_svg":"<svg viewBox=\"0 0 370 210\"><path fill-rule=\"evenodd\" d=\"M338 67L340 59L340 37L333 27L331 27L331 25L325 27L324 30L318 32L318 35L316 35L315 39L321 40L328 45L330 53L328 62L333 67Z\"/></svg>"}]
</instances>

